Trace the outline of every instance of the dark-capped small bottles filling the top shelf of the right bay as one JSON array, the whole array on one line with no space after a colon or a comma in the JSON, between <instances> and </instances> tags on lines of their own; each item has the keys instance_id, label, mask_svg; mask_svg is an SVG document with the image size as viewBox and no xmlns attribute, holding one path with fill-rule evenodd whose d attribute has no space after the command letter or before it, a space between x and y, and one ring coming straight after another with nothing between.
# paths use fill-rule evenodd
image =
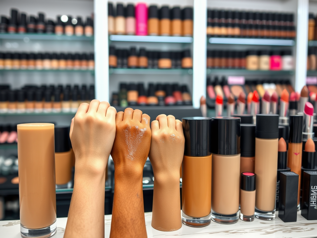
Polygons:
<instances>
[{"instance_id":1,"label":"dark-capped small bottles filling the top shelf of the right bay","mask_svg":"<svg viewBox=\"0 0 317 238\"><path fill-rule=\"evenodd\" d=\"M208 9L207 36L295 38L294 14Z\"/></svg>"}]
</instances>

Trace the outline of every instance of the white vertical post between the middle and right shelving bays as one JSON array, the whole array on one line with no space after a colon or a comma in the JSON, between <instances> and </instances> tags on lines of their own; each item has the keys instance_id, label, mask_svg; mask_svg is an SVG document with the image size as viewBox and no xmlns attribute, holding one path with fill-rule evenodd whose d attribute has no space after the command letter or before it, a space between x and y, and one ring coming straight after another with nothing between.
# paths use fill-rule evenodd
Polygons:
<instances>
[{"instance_id":1,"label":"white vertical post between the middle and right shelving bays","mask_svg":"<svg viewBox=\"0 0 317 238\"><path fill-rule=\"evenodd\" d=\"M194 0L193 106L206 96L207 0Z\"/></svg>"}]
</instances>

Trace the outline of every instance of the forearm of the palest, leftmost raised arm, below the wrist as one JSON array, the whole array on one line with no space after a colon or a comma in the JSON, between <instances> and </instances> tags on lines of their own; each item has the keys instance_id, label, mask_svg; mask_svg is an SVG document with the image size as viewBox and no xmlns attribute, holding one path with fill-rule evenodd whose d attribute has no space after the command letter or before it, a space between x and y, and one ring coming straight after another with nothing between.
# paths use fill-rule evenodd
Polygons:
<instances>
[{"instance_id":1,"label":"forearm of the palest, leftmost raised arm, below the wrist","mask_svg":"<svg viewBox=\"0 0 317 238\"><path fill-rule=\"evenodd\" d=\"M105 236L105 178L105 173L88 175L75 167L64 238Z\"/></svg>"}]
</instances>

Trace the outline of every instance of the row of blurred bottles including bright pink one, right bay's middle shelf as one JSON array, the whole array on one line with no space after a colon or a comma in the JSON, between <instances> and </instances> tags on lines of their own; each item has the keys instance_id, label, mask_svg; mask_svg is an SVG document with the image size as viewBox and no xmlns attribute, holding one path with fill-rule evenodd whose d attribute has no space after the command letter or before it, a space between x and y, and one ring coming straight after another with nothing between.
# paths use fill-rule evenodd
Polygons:
<instances>
[{"instance_id":1,"label":"row of blurred bottles including bright pink one, right bay's middle shelf","mask_svg":"<svg viewBox=\"0 0 317 238\"><path fill-rule=\"evenodd\" d=\"M291 50L207 50L207 68L247 70L292 70Z\"/></svg>"}]
</instances>

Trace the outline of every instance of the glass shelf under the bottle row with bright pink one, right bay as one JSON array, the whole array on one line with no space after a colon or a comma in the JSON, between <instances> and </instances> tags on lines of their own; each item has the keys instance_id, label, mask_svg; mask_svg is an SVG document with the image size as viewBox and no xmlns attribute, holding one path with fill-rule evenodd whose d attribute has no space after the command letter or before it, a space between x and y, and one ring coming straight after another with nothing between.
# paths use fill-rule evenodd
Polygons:
<instances>
[{"instance_id":1,"label":"glass shelf under the bottle row with bright pink one, right bay","mask_svg":"<svg viewBox=\"0 0 317 238\"><path fill-rule=\"evenodd\" d=\"M209 74L231 75L293 75L293 70L247 70L247 69L207 69Z\"/></svg>"}]
</instances>

